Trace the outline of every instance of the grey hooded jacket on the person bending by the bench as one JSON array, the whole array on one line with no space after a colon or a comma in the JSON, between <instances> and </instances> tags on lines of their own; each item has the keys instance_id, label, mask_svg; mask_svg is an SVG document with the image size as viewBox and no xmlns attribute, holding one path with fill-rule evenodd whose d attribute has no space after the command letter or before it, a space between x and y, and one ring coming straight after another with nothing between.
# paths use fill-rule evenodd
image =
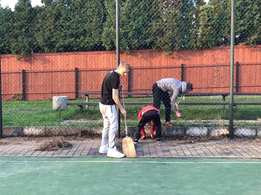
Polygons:
<instances>
[{"instance_id":1,"label":"grey hooded jacket on the person bending by the bench","mask_svg":"<svg viewBox=\"0 0 261 195\"><path fill-rule=\"evenodd\" d=\"M187 82L181 82L174 78L165 78L157 81L156 83L161 90L173 92L170 104L175 111L178 111L176 107L176 100L178 98L178 95L180 94L180 91L182 94L185 93L187 88Z\"/></svg>"}]
</instances>

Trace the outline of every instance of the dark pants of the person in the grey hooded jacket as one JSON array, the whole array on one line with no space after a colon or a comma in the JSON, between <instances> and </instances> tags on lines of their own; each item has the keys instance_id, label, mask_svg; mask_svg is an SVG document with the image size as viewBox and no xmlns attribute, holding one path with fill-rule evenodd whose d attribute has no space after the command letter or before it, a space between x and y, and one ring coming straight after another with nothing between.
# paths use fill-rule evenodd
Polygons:
<instances>
[{"instance_id":1,"label":"dark pants of the person in the grey hooded jacket","mask_svg":"<svg viewBox=\"0 0 261 195\"><path fill-rule=\"evenodd\" d=\"M153 94L153 106L157 109L161 107L161 101L165 106L165 121L170 121L170 113L171 113L171 105L170 105L170 97L168 91L163 91L157 86L157 83L154 83L152 86L152 94Z\"/></svg>"}]
</instances>

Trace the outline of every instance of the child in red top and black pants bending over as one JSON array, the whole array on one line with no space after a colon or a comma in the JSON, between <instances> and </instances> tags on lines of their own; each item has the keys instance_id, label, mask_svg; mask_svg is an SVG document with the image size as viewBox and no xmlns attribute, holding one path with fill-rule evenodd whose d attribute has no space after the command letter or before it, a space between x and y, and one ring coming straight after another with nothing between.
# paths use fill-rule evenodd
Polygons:
<instances>
[{"instance_id":1,"label":"child in red top and black pants bending over","mask_svg":"<svg viewBox=\"0 0 261 195\"><path fill-rule=\"evenodd\" d=\"M144 138L144 134L146 135L144 131L144 125L151 121L153 123L152 129L150 131L151 138L154 137L153 133L156 129L157 142L161 142L161 117L159 110L153 106L145 106L139 112L138 117L139 123L137 125L137 131L134 133L135 138L133 143L138 144L138 140L141 137L141 131Z\"/></svg>"}]
</instances>

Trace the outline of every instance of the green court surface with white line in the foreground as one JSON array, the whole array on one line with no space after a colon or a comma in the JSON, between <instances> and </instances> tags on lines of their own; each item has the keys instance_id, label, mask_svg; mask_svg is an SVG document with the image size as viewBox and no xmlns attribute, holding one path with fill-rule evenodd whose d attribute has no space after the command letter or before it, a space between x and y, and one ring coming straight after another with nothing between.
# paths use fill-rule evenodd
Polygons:
<instances>
[{"instance_id":1,"label":"green court surface with white line in the foreground","mask_svg":"<svg viewBox=\"0 0 261 195\"><path fill-rule=\"evenodd\" d=\"M261 194L260 159L0 158L0 194Z\"/></svg>"}]
</instances>

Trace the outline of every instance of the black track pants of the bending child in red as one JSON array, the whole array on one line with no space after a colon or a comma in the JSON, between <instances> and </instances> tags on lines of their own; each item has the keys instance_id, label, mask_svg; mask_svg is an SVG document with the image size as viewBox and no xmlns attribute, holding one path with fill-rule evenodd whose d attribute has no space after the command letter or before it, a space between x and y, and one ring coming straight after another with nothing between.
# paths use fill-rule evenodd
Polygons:
<instances>
[{"instance_id":1,"label":"black track pants of the bending child in red","mask_svg":"<svg viewBox=\"0 0 261 195\"><path fill-rule=\"evenodd\" d=\"M156 123L156 138L161 137L160 113L157 110L149 110L142 115L142 117L137 125L137 131L134 133L134 136L136 137L136 139L139 139L141 137L141 129L142 129L142 127L145 126L145 124L149 120L154 120L154 122Z\"/></svg>"}]
</instances>

